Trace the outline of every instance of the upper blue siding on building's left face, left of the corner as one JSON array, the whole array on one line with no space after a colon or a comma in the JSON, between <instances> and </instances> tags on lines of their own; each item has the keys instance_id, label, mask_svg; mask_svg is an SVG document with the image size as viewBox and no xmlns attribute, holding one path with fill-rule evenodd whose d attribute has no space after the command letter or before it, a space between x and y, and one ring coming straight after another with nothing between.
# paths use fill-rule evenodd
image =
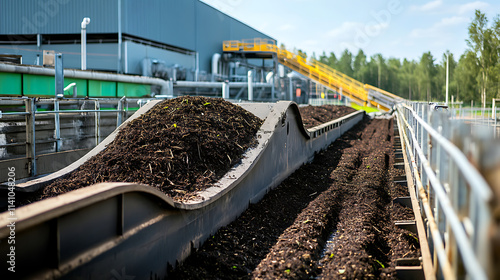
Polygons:
<instances>
[{"instance_id":1,"label":"upper blue siding on building's left face, left of the corner","mask_svg":"<svg viewBox=\"0 0 500 280\"><path fill-rule=\"evenodd\" d=\"M116 33L117 7L117 0L2 0L0 34L80 33L84 17L88 33Z\"/></svg>"}]
</instances>

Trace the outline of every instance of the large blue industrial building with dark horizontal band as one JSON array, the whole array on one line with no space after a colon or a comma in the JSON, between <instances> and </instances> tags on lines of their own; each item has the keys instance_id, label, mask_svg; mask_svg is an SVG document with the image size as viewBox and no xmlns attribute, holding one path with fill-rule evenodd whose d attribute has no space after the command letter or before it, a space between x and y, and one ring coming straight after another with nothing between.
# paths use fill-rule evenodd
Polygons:
<instances>
[{"instance_id":1,"label":"large blue industrial building with dark horizontal band","mask_svg":"<svg viewBox=\"0 0 500 280\"><path fill-rule=\"evenodd\" d=\"M8 0L0 54L42 65L50 50L63 54L64 68L80 69L86 17L87 69L174 80L212 81L224 40L272 39L199 0Z\"/></svg>"}]
</instances>

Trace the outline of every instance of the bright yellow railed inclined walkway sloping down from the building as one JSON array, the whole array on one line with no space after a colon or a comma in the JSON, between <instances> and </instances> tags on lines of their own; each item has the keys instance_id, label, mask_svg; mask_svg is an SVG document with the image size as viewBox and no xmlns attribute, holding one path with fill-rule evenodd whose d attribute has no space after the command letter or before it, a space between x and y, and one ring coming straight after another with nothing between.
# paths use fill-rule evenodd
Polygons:
<instances>
[{"instance_id":1,"label":"bright yellow railed inclined walkway sloping down from the building","mask_svg":"<svg viewBox=\"0 0 500 280\"><path fill-rule=\"evenodd\" d=\"M224 41L222 49L225 52L270 52L278 56L278 61L289 67L290 69L299 72L300 74L349 97L354 102L362 106L375 106L383 110L389 110L385 106L368 98L368 90L372 89L388 96L391 99L401 99L400 97L389 93L377 87L363 84L333 68L325 65L317 60L308 62L306 58L287 51L284 48L278 48L276 41L271 39L245 39L242 41L232 40Z\"/></svg>"}]
</instances>

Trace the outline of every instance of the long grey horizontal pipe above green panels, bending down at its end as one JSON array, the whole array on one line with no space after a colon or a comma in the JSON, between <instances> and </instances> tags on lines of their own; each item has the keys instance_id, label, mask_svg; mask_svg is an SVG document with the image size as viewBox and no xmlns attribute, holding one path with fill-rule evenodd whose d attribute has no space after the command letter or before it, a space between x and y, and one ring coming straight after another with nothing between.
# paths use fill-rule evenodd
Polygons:
<instances>
[{"instance_id":1,"label":"long grey horizontal pipe above green panels, bending down at its end","mask_svg":"<svg viewBox=\"0 0 500 280\"><path fill-rule=\"evenodd\" d=\"M51 69L51 68L34 67L34 66L19 66L19 65L2 64L2 63L0 63L0 72L23 73L23 74L44 75L44 76L55 75L55 70L53 68ZM161 95L167 95L167 96L174 95L173 91L169 90L171 82L159 78L109 74L109 73L94 72L94 71L81 71L77 69L64 69L64 76L67 78L77 78L77 79L158 85L161 86L161 93L160 93Z\"/></svg>"}]
</instances>

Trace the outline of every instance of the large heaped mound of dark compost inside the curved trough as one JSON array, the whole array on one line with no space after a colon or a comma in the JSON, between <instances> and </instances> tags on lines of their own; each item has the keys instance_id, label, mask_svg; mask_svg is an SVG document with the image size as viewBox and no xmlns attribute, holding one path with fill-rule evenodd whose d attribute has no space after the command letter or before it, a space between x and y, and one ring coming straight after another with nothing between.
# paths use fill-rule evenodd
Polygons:
<instances>
[{"instance_id":1,"label":"large heaped mound of dark compost inside the curved trough","mask_svg":"<svg viewBox=\"0 0 500 280\"><path fill-rule=\"evenodd\" d=\"M262 120L220 98L183 96L122 128L106 149L34 200L101 182L153 186L176 200L217 182L255 145Z\"/></svg>"}]
</instances>

